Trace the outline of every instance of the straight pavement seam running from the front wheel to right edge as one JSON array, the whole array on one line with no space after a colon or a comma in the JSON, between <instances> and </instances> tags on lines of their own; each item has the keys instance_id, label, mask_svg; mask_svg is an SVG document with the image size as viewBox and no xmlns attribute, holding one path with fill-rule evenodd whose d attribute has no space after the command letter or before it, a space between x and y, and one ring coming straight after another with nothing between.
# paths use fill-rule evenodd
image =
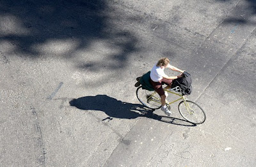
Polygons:
<instances>
[{"instance_id":1,"label":"straight pavement seam running from the front wheel to right edge","mask_svg":"<svg viewBox=\"0 0 256 167\"><path fill-rule=\"evenodd\" d=\"M211 85L211 83L217 78L218 75L220 75L221 71L223 70L223 68L225 68L225 66L227 66L228 62L231 61L231 59L237 54L237 52L239 52L239 50L241 50L241 48L244 47L244 45L246 44L246 41L248 41L248 39L250 38L250 36L252 36L252 33L256 30L256 27L253 29L253 31L247 36L247 38L243 41L243 43L241 44L241 46L239 48L237 48L236 52L230 56L230 58L228 59L227 62L225 62L225 64L223 65L223 67L220 69L220 71L218 71L218 73L216 73L216 75L212 78L211 82L208 83L207 87L205 87L204 91L202 91L202 93L195 99L195 101L197 101L202 94L204 94L204 92L206 91L206 89Z\"/></svg>"}]
</instances>

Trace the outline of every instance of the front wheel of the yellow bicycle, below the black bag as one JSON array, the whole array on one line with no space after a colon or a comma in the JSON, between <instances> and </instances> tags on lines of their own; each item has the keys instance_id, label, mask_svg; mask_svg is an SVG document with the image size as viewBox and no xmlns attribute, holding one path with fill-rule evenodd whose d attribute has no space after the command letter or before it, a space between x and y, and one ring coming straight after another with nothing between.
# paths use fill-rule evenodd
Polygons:
<instances>
[{"instance_id":1,"label":"front wheel of the yellow bicycle, below the black bag","mask_svg":"<svg viewBox=\"0 0 256 167\"><path fill-rule=\"evenodd\" d=\"M180 115L192 124L202 124L206 119L206 115L202 107L193 101L181 101L179 103Z\"/></svg>"}]
</instances>

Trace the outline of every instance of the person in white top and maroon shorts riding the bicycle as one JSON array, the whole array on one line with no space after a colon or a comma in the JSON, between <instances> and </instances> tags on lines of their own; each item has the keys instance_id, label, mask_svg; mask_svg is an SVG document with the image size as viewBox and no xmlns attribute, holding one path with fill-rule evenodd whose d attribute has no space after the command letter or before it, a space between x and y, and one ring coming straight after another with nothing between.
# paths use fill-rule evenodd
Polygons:
<instances>
[{"instance_id":1,"label":"person in white top and maroon shorts riding the bicycle","mask_svg":"<svg viewBox=\"0 0 256 167\"><path fill-rule=\"evenodd\" d=\"M178 76L168 76L164 73L164 69L169 68L173 71L179 71L181 74ZM172 86L172 81L182 77L182 73L184 73L183 70L179 68L175 68L174 66L170 65L170 61L168 58L164 57L162 59L159 59L157 64L154 65L154 67L151 69L150 72L150 83L153 85L155 91L159 94L161 97L161 110L166 114L170 115L171 111L166 106L166 96L168 94L164 94L164 89L170 89ZM167 86L163 89L163 84L166 84Z\"/></svg>"}]
</instances>

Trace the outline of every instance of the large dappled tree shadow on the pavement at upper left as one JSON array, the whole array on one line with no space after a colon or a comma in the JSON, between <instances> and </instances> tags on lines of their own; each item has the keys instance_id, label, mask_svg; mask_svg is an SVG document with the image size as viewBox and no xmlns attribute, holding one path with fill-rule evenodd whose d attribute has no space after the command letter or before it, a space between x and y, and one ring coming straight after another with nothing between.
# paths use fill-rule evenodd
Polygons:
<instances>
[{"instance_id":1,"label":"large dappled tree shadow on the pavement at upper left","mask_svg":"<svg viewBox=\"0 0 256 167\"><path fill-rule=\"evenodd\" d=\"M101 0L3 0L0 2L0 43L12 45L1 50L4 55L23 58L81 58L76 53L94 41L105 41L117 51L108 56L115 64L109 69L123 68L127 57L136 50L136 37L111 23L111 7ZM124 14L124 13L123 13ZM116 16L115 16L116 17ZM115 20L114 20L115 21ZM77 68L97 70L99 62L77 62ZM96 68L97 67L97 68Z\"/></svg>"}]
</instances>

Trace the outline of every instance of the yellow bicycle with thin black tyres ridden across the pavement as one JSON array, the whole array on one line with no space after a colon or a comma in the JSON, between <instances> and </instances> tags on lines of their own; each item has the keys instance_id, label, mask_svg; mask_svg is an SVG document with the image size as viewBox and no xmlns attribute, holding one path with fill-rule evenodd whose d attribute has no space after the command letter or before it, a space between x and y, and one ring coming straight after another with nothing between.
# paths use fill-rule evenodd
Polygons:
<instances>
[{"instance_id":1,"label":"yellow bicycle with thin black tyres ridden across the pavement","mask_svg":"<svg viewBox=\"0 0 256 167\"><path fill-rule=\"evenodd\" d=\"M166 100L166 105L168 108L170 108L172 103L182 99L178 106L180 115L192 124L202 124L205 122L206 115L202 107L194 101L189 101L187 96L182 94L180 87L174 87L169 90L164 89L164 91L179 96L178 99L175 99L172 102L168 102ZM143 87L140 86L136 90L136 96L142 105L146 106L147 108L152 110L161 108L161 98L156 91L148 91L147 89L143 89Z\"/></svg>"}]
</instances>

